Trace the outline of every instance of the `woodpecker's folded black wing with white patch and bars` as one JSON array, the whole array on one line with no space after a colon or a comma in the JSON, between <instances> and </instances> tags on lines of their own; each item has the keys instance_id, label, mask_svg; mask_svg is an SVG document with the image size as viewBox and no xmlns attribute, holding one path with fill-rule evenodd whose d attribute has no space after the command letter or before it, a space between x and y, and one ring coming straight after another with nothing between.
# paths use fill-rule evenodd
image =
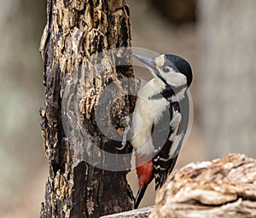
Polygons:
<instances>
[{"instance_id":1,"label":"woodpecker's folded black wing with white patch and bars","mask_svg":"<svg viewBox=\"0 0 256 218\"><path fill-rule=\"evenodd\" d=\"M179 115L175 114L175 112L179 113ZM176 129L173 123L172 126L170 125L175 116L181 116L180 123ZM153 158L155 189L162 186L166 181L167 175L171 174L182 147L188 124L189 96L186 93L181 102L170 102L170 106L166 106L166 111L163 112L159 122L154 123L152 137L156 152ZM177 136L176 141L174 141L175 136Z\"/></svg>"}]
</instances>

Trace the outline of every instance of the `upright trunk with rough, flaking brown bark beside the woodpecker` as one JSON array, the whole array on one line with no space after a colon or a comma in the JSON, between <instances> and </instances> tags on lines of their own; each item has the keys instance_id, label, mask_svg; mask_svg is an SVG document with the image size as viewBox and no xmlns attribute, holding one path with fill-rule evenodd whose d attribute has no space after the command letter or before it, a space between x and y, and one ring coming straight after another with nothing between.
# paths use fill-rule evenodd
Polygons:
<instances>
[{"instance_id":1,"label":"upright trunk with rough, flaking brown bark beside the woodpecker","mask_svg":"<svg viewBox=\"0 0 256 218\"><path fill-rule=\"evenodd\" d=\"M99 217L132 209L131 146L119 151L135 98L124 1L48 0L40 45L41 126L49 178L40 217ZM115 48L120 48L116 49Z\"/></svg>"}]
</instances>

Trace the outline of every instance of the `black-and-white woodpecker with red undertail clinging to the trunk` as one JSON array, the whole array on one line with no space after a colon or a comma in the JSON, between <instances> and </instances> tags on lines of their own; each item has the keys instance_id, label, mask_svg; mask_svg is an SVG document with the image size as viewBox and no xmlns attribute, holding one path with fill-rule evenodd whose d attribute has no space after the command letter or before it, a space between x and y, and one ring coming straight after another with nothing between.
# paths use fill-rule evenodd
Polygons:
<instances>
[{"instance_id":1,"label":"black-and-white woodpecker with red undertail clinging to the trunk","mask_svg":"<svg viewBox=\"0 0 256 218\"><path fill-rule=\"evenodd\" d=\"M131 121L131 146L135 149L139 189L137 209L151 181L155 190L164 184L177 162L189 124L192 69L175 54L155 58L133 54L148 67L153 78L137 92Z\"/></svg>"}]
</instances>

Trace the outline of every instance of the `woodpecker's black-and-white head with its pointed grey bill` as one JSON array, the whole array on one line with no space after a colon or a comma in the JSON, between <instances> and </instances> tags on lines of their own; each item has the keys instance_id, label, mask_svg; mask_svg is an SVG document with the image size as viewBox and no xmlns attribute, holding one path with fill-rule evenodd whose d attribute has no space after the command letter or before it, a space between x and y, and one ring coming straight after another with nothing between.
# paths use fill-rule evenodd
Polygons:
<instances>
[{"instance_id":1,"label":"woodpecker's black-and-white head with its pointed grey bill","mask_svg":"<svg viewBox=\"0 0 256 218\"><path fill-rule=\"evenodd\" d=\"M148 66L153 76L174 89L189 88L192 82L192 70L187 60L174 54L161 54L156 58L142 55L133 56Z\"/></svg>"}]
</instances>

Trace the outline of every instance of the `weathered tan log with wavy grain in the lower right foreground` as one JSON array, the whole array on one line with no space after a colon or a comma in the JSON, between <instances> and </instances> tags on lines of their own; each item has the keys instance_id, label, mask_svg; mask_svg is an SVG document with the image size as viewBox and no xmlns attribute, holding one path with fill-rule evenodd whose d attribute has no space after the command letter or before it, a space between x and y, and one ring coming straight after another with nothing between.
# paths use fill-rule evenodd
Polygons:
<instances>
[{"instance_id":1,"label":"weathered tan log with wavy grain in the lower right foreground","mask_svg":"<svg viewBox=\"0 0 256 218\"><path fill-rule=\"evenodd\" d=\"M256 217L256 160L230 154L176 169L157 192L155 203L154 208L104 218Z\"/></svg>"}]
</instances>

